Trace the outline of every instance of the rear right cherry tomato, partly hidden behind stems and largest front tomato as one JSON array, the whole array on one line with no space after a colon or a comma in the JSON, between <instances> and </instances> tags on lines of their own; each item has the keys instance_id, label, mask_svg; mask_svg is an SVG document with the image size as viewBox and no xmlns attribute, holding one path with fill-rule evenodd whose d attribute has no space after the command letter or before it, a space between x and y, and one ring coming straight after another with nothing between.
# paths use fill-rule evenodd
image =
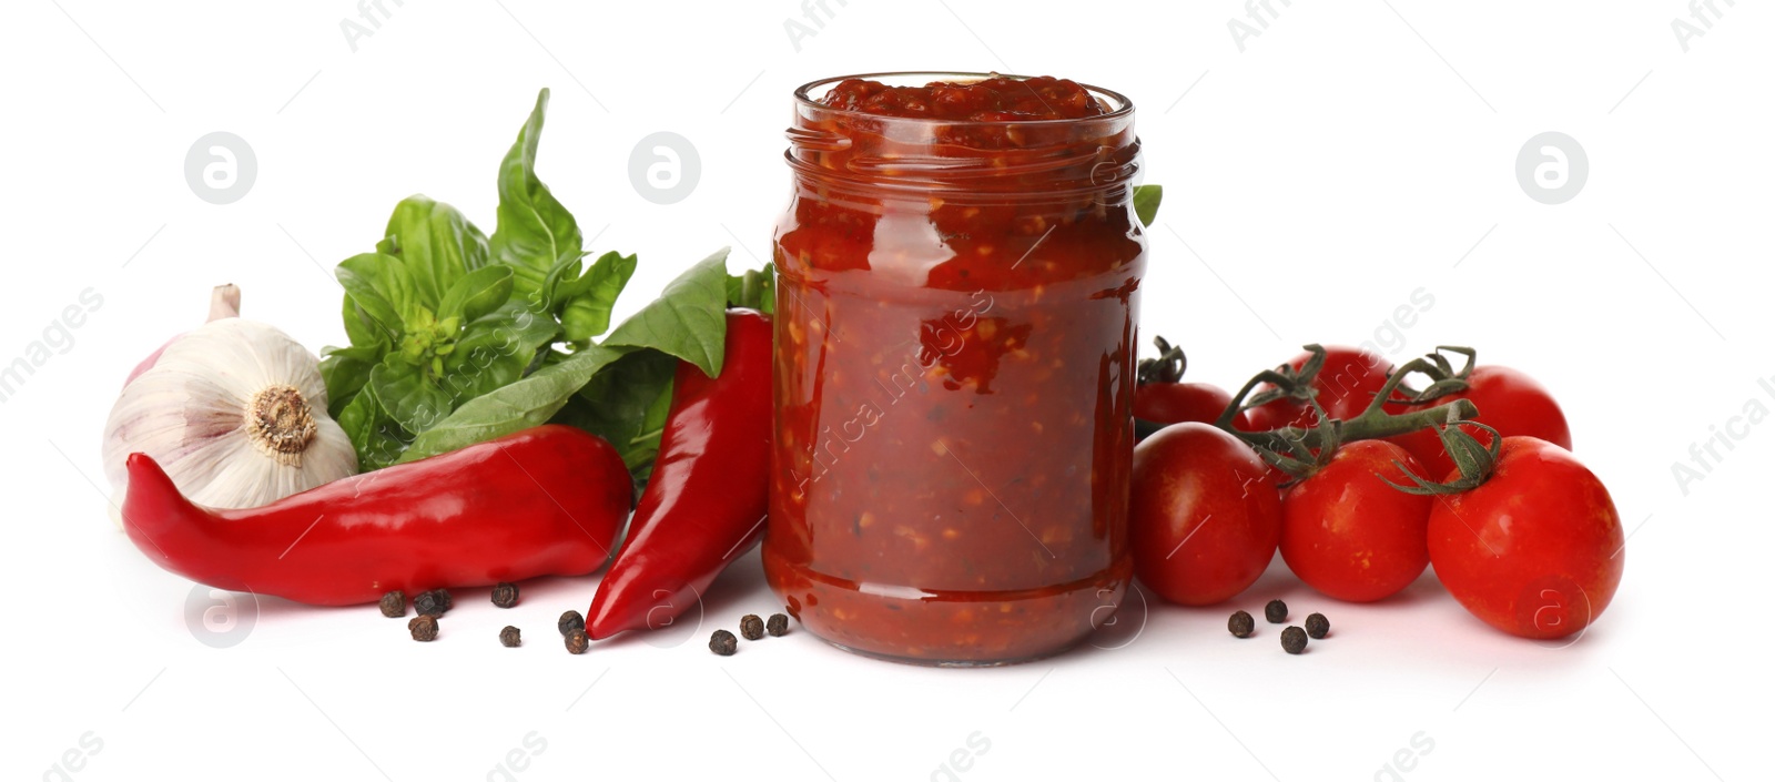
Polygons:
<instances>
[{"instance_id":1,"label":"rear right cherry tomato, partly hidden behind stems and largest front tomato","mask_svg":"<svg viewBox=\"0 0 1775 782\"><path fill-rule=\"evenodd\" d=\"M1571 427L1566 426L1566 413L1558 403L1534 378L1511 367L1480 365L1468 374L1468 388L1448 394L1427 404L1390 408L1393 413L1434 408L1456 399L1471 399L1479 408L1479 420L1503 436L1523 434L1546 440L1571 450ZM1484 429L1468 429L1468 434L1480 443L1491 445L1491 434ZM1454 459L1443 450L1441 438L1431 429L1418 429L1408 434L1388 438L1424 463L1424 477L1440 481L1454 472Z\"/></svg>"}]
</instances>

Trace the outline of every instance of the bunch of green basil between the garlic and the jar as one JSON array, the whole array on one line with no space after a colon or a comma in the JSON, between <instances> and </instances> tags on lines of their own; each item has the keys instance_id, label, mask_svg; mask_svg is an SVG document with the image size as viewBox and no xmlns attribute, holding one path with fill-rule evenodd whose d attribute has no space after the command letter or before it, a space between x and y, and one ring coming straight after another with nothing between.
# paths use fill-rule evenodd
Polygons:
<instances>
[{"instance_id":1,"label":"bunch of green basil between the garlic and the jar","mask_svg":"<svg viewBox=\"0 0 1775 782\"><path fill-rule=\"evenodd\" d=\"M327 348L321 374L360 468L559 420L611 440L644 481L676 360L721 372L735 285L726 250L595 342L637 259L586 262L579 222L536 176L547 108L545 89L499 165L492 238L414 195L396 204L375 252L339 262L351 344Z\"/></svg>"}]
</instances>

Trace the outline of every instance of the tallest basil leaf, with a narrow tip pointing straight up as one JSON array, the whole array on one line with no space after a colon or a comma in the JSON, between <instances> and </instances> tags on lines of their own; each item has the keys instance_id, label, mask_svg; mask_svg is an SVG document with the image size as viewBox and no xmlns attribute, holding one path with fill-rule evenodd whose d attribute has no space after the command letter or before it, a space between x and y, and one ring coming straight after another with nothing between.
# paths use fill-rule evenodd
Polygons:
<instances>
[{"instance_id":1,"label":"tallest basil leaf, with a narrow tip pointing straight up","mask_svg":"<svg viewBox=\"0 0 1775 782\"><path fill-rule=\"evenodd\" d=\"M499 163L499 225L488 245L493 261L511 266L517 275L517 293L531 301L541 301L543 282L556 264L580 255L579 223L536 177L536 145L547 110L548 90L543 89L518 140Z\"/></svg>"}]
</instances>

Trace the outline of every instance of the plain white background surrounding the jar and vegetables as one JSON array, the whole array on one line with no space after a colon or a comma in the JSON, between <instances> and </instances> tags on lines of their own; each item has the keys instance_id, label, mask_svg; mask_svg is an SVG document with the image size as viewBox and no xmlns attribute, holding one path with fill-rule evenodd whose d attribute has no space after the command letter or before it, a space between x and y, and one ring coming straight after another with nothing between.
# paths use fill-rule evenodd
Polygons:
<instances>
[{"instance_id":1,"label":"plain white background surrounding the jar and vegetables","mask_svg":"<svg viewBox=\"0 0 1775 782\"><path fill-rule=\"evenodd\" d=\"M1775 408L1757 387L1775 376L1766 4L1716 2L1688 51L1677 0L1274 0L1244 51L1228 20L1257 25L1232 0L831 0L799 51L786 0L385 5L355 51L346 0L7 9L0 362L83 289L103 296L0 404L7 778L1766 773L1775 427L1734 424L1743 440L1704 481L1672 477L1747 404ZM737 245L735 271L756 264L786 200L792 89L888 69L1053 73L1132 96L1147 181L1166 184L1143 328L1182 340L1196 379L1384 339L1424 287L1434 305L1379 344L1400 360L1473 344L1564 401L1633 532L1613 606L1548 649L1468 617L1431 576L1347 606L1276 566L1234 605L1136 603L1097 640L1111 649L1031 665L925 670L808 633L710 656L717 622L776 608L754 553L674 647L563 653L552 621L588 603L589 576L525 583L511 612L460 592L430 645L373 606L266 599L243 644L211 649L188 628L192 583L114 532L94 482L128 369L199 323L220 282L316 351L343 342L332 264L415 192L492 231L495 167L538 87L554 89L541 177L589 248L641 254L623 316L717 246ZM183 176L218 129L259 165L229 206ZM627 174L662 129L701 156L676 206ZM1541 131L1589 156L1562 206L1516 181ZM1290 658L1271 626L1225 633L1232 608L1273 596L1328 614L1333 638ZM529 644L501 649L506 622ZM987 748L969 757L971 738ZM1413 757L1413 738L1432 747ZM83 755L82 739L101 747Z\"/></svg>"}]
</instances>

